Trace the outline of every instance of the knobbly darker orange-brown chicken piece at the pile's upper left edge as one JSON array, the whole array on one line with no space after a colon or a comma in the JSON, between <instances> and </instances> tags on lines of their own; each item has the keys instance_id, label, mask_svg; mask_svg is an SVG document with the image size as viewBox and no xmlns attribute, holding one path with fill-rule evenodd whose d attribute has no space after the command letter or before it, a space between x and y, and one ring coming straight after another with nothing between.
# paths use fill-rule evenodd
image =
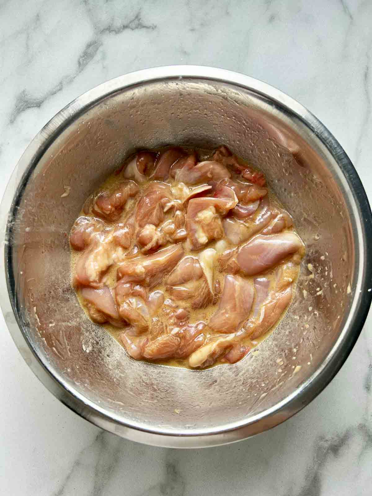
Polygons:
<instances>
[{"instance_id":1,"label":"knobbly darker orange-brown chicken piece at the pile's upper left edge","mask_svg":"<svg viewBox=\"0 0 372 496\"><path fill-rule=\"evenodd\" d=\"M123 182L114 192L106 191L100 193L93 205L93 213L98 217L114 222L119 219L126 200L138 192L138 186L134 181Z\"/></svg>"}]
</instances>

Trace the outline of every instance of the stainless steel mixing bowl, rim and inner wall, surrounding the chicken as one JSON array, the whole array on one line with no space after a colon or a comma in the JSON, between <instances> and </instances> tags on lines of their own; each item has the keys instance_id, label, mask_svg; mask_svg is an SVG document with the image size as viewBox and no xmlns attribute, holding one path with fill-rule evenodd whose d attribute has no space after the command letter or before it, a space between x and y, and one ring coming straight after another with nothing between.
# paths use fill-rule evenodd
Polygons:
<instances>
[{"instance_id":1,"label":"stainless steel mixing bowl, rim and inner wall, surrounding the chicken","mask_svg":"<svg viewBox=\"0 0 372 496\"><path fill-rule=\"evenodd\" d=\"M225 143L260 167L307 245L286 317L233 366L135 362L70 286L67 235L84 199L135 148L171 143ZM371 210L344 150L296 101L226 70L158 67L80 96L27 148L1 217L1 306L19 351L64 404L136 441L212 446L283 422L340 369L371 303Z\"/></svg>"}]
</instances>

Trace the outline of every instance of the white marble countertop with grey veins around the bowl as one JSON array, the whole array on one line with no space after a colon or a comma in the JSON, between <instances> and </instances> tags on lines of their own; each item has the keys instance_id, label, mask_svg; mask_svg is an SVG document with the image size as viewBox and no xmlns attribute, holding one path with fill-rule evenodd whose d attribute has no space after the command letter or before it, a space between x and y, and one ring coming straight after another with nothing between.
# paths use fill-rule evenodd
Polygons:
<instances>
[{"instance_id":1,"label":"white marble countertop with grey veins around the bowl","mask_svg":"<svg viewBox=\"0 0 372 496\"><path fill-rule=\"evenodd\" d=\"M191 63L299 100L340 141L371 200L371 19L372 2L359 0L0 0L0 196L30 140L77 95L132 70ZM148 447L82 420L33 375L2 315L0 357L1 494L372 494L371 313L305 410L207 450Z\"/></svg>"}]
</instances>

